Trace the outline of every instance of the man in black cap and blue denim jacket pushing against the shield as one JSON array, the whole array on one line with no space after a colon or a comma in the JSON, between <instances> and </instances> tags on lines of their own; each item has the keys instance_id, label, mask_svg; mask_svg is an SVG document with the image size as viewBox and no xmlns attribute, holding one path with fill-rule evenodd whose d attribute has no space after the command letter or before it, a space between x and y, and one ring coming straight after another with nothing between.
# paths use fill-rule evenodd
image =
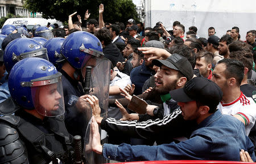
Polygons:
<instances>
[{"instance_id":1,"label":"man in black cap and blue denim jacket pushing against the shield","mask_svg":"<svg viewBox=\"0 0 256 164\"><path fill-rule=\"evenodd\" d=\"M255 161L253 144L245 136L243 124L230 115L222 115L217 105L222 99L221 89L203 77L191 79L184 88L172 90L185 120L198 124L188 140L178 144L158 146L100 143L96 120L92 119L92 150L115 161L156 161L177 159L207 159L240 161L240 150L246 149Z\"/></svg>"}]
</instances>

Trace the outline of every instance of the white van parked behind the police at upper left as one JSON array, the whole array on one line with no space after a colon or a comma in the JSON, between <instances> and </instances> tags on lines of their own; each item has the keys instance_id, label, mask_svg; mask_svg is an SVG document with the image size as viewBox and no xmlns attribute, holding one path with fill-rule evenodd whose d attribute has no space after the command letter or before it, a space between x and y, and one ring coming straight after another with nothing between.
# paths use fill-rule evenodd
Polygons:
<instances>
[{"instance_id":1,"label":"white van parked behind the police at upper left","mask_svg":"<svg viewBox=\"0 0 256 164\"><path fill-rule=\"evenodd\" d=\"M34 25L40 24L42 26L46 26L47 23L57 23L59 26L63 25L61 21L57 21L56 19L44 19L44 18L9 18L5 21L5 24L11 24L11 25L20 25L24 24L27 26L27 29L32 29Z\"/></svg>"}]
</instances>

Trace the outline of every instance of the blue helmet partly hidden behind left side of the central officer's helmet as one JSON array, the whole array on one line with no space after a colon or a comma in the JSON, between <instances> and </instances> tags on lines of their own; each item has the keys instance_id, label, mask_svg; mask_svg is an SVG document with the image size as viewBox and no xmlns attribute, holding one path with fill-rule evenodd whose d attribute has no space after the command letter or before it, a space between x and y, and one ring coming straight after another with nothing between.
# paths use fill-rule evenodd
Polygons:
<instances>
[{"instance_id":1,"label":"blue helmet partly hidden behind left side of the central officer's helmet","mask_svg":"<svg viewBox=\"0 0 256 164\"><path fill-rule=\"evenodd\" d=\"M57 59L61 57L60 48L63 45L64 38L55 37L51 38L44 44L44 48L47 49L49 61L55 65L55 67L61 68L61 63L57 63Z\"/></svg>"}]
</instances>

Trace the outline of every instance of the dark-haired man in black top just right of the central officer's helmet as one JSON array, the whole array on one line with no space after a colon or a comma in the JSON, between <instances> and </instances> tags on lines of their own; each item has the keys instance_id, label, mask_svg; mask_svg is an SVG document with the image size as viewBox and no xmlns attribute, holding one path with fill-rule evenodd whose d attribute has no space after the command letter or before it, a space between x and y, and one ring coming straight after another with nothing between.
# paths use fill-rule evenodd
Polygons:
<instances>
[{"instance_id":1,"label":"dark-haired man in black top just right of the central officer's helmet","mask_svg":"<svg viewBox=\"0 0 256 164\"><path fill-rule=\"evenodd\" d=\"M117 62L125 61L125 58L123 58L123 55L120 53L117 46L112 44L111 34L108 29L99 29L95 33L95 36L101 41L104 57L108 58L112 62L113 66L116 66Z\"/></svg>"}]
</instances>

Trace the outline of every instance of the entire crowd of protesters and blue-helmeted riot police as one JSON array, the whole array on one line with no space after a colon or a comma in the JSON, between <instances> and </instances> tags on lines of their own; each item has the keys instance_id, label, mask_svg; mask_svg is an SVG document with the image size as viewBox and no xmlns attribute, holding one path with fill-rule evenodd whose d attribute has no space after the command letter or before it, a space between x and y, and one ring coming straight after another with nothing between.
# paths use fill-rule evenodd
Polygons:
<instances>
[{"instance_id":1,"label":"entire crowd of protesters and blue-helmeted riot police","mask_svg":"<svg viewBox=\"0 0 256 164\"><path fill-rule=\"evenodd\" d=\"M255 161L255 30L203 38L98 13L2 27L0 163Z\"/></svg>"}]
</instances>

